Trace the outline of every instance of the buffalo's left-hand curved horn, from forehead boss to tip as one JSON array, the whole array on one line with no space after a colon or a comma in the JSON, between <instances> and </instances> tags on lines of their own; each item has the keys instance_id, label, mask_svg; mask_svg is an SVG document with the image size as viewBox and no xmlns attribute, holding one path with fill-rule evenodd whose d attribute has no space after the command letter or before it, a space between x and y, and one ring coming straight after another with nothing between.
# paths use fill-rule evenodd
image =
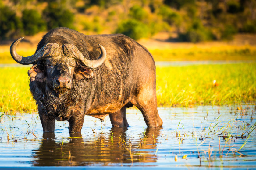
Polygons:
<instances>
[{"instance_id":1,"label":"buffalo's left-hand curved horn, from forehead boss to tip","mask_svg":"<svg viewBox=\"0 0 256 170\"><path fill-rule=\"evenodd\" d=\"M48 56L56 56L60 53L60 46L56 43L48 43L44 45L40 50L38 50L35 54L32 56L28 57L23 57L17 54L16 52L16 46L22 40L24 37L17 39L14 41L10 47L10 53L13 58L17 63L19 64L33 64L37 60L40 60L42 58L48 57Z\"/></svg>"}]
</instances>

